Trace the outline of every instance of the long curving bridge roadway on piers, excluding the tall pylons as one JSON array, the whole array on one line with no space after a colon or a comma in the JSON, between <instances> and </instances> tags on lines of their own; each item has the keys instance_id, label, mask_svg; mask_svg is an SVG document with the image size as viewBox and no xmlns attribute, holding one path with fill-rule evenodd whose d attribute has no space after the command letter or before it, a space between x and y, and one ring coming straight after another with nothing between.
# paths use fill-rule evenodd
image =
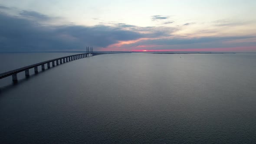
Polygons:
<instances>
[{"instance_id":1,"label":"long curving bridge roadway on piers, excluding the tall pylons","mask_svg":"<svg viewBox=\"0 0 256 144\"><path fill-rule=\"evenodd\" d=\"M121 53L121 52L115 52L115 53ZM29 69L34 68L35 73L38 73L38 66L41 65L42 70L45 70L45 64L46 63L47 63L47 68L49 69L51 67L50 63L52 63L52 66L55 66L55 61L56 61L56 65L59 65L59 64L62 64L62 61L63 61L63 63L65 63L65 62L73 61L75 59L82 59L82 58L86 58L86 57L89 57L89 56L97 56L97 55L103 55L103 54L114 54L114 53L113 52L112 53L109 53L109 52L93 52L93 53L76 54L76 55L71 55L71 56L63 56L63 57L60 57L60 58L51 59L51 60L47 60L47 61L44 61L44 62L39 62L39 63L33 64L33 65L28 65L28 66L25 66L25 67L20 68L20 69L14 69L14 70L11 70L9 72L1 73L0 74L0 79L3 79L5 77L8 77L8 76L12 75L13 82L17 82L18 81L17 73L25 71L25 75L27 77L27 76L30 75Z\"/></svg>"}]
</instances>

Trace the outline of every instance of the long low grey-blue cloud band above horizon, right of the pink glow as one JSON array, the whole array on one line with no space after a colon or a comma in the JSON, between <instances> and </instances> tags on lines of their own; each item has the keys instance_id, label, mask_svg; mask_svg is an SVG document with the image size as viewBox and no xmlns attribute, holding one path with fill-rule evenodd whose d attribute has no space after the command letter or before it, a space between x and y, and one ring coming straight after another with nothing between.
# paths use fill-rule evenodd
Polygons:
<instances>
[{"instance_id":1,"label":"long low grey-blue cloud band above horizon, right of the pink glow","mask_svg":"<svg viewBox=\"0 0 256 144\"><path fill-rule=\"evenodd\" d=\"M141 39L136 43L130 43L123 45L125 49L203 49L204 48L228 48L237 46L255 46L256 41L245 42L246 39L256 39L255 36L212 36L212 37L200 37L200 38L160 38L160 39ZM227 43L229 41L244 41L242 43Z\"/></svg>"}]
</instances>

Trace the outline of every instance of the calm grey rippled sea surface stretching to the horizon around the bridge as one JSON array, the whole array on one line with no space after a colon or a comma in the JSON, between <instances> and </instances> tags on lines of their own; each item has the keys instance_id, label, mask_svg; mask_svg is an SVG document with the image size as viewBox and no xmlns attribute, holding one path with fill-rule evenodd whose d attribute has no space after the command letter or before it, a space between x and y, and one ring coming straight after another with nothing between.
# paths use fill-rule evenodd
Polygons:
<instances>
[{"instance_id":1,"label":"calm grey rippled sea surface stretching to the horizon around the bridge","mask_svg":"<svg viewBox=\"0 0 256 144\"><path fill-rule=\"evenodd\" d=\"M0 53L0 73L73 54ZM111 54L30 74L0 79L0 144L256 143L256 54Z\"/></svg>"}]
</instances>

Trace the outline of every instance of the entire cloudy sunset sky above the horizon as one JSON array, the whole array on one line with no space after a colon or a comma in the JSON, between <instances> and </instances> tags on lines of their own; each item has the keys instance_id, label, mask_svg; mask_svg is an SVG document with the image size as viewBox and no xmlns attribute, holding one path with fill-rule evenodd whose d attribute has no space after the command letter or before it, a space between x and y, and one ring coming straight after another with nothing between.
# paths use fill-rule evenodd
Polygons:
<instances>
[{"instance_id":1,"label":"entire cloudy sunset sky above the horizon","mask_svg":"<svg viewBox=\"0 0 256 144\"><path fill-rule=\"evenodd\" d=\"M256 0L0 0L0 52L256 52Z\"/></svg>"}]
</instances>

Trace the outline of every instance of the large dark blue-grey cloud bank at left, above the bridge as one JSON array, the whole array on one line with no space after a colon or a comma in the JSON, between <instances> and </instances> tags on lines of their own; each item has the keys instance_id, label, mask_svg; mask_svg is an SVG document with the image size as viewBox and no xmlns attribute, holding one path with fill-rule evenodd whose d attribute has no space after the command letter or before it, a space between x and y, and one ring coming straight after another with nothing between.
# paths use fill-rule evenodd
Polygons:
<instances>
[{"instance_id":1,"label":"large dark blue-grey cloud bank at left, above the bridge","mask_svg":"<svg viewBox=\"0 0 256 144\"><path fill-rule=\"evenodd\" d=\"M30 16L46 19L35 13ZM111 26L43 26L23 16L0 13L0 51L51 51L107 47L120 40L133 40L142 34Z\"/></svg>"}]
</instances>

